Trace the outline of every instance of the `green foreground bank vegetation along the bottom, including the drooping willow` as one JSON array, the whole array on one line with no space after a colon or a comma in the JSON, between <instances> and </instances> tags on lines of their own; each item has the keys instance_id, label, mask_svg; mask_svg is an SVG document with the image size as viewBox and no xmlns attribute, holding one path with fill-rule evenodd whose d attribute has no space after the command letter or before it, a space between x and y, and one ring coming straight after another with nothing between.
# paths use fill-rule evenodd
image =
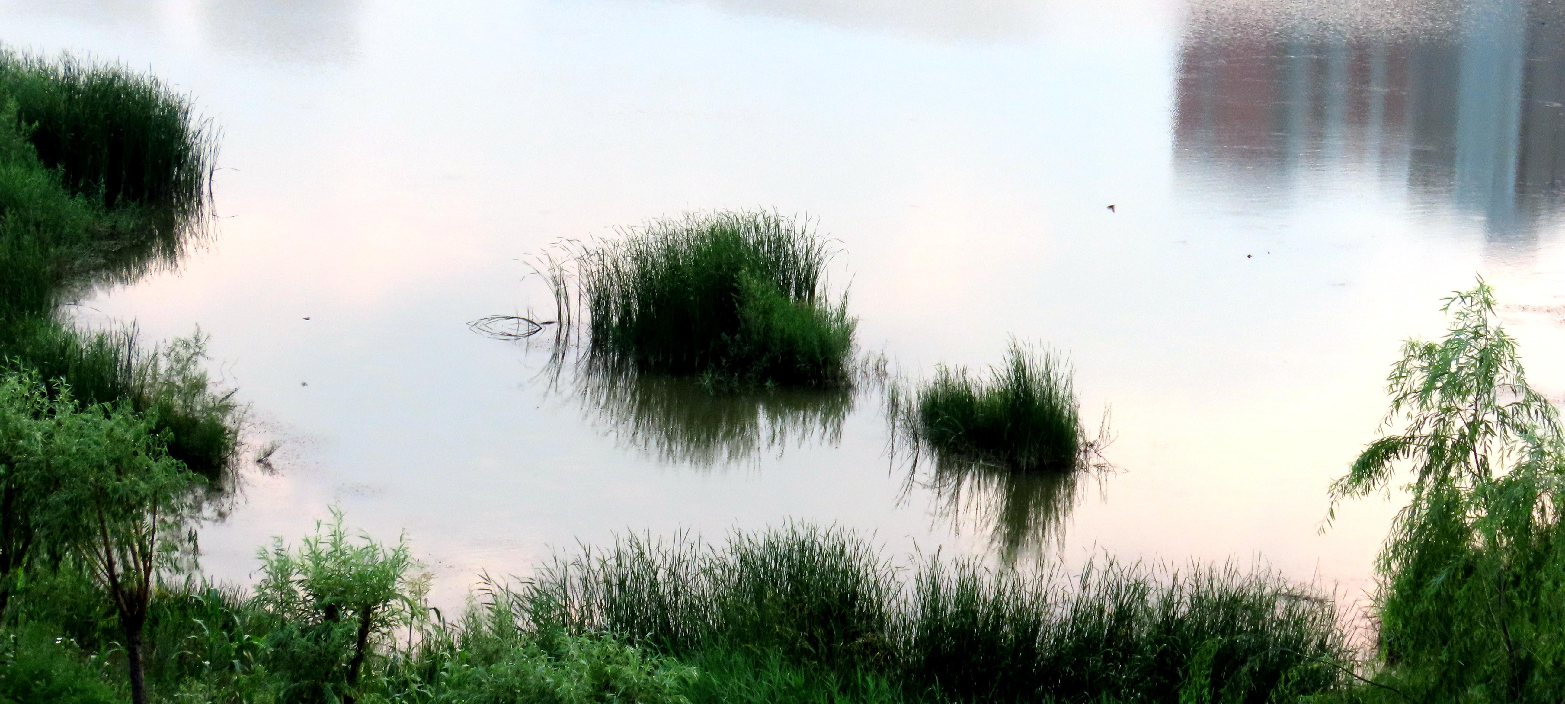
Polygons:
<instances>
[{"instance_id":1,"label":"green foreground bank vegetation along the bottom, including the drooping willow","mask_svg":"<svg viewBox=\"0 0 1565 704\"><path fill-rule=\"evenodd\" d=\"M47 394L13 380L23 391L6 396L11 421L0 429L80 418L85 426L66 427L91 435L128 422L111 436L131 438L135 457L167 471L138 474L131 488L142 508L103 504L127 535L110 549L158 555L139 602L114 596L94 568L103 552L83 546L95 538L63 527L70 523L59 513L38 524L39 544L58 548L58 560L8 577L16 591L0 627L0 696L121 702L139 688L146 698L133 701L1552 701L1565 436L1557 411L1527 386L1488 286L1452 296L1446 311L1446 336L1408 341L1393 368L1388 427L1405 430L1371 443L1330 491L1335 516L1338 502L1413 471L1410 504L1379 565L1368 610L1376 634L1365 646L1351 643L1344 624L1354 616L1332 594L1265 568L1103 557L1070 576L939 554L898 565L872 537L809 523L720 543L621 535L559 554L531 579L485 576L462 613L443 613L427 605L430 577L405 540L354 535L335 513L296 546L261 549L260 582L246 591L180 560L192 555L175 530L191 526L180 518L189 507L152 479L192 479L155 443L135 440L150 438L144 419L128 408L30 411L50 404ZM22 455L6 443L9 457L33 457L16 466L56 455ZM70 462L102 466L94 457ZM91 482L74 487L77 501L108 501L92 499ZM155 519L146 505L172 513ZM150 526L164 526L161 540L172 544L152 551L163 543L149 538ZM121 638L127 610L142 623L135 648ZM127 687L122 673L138 656L144 677Z\"/></svg>"}]
</instances>

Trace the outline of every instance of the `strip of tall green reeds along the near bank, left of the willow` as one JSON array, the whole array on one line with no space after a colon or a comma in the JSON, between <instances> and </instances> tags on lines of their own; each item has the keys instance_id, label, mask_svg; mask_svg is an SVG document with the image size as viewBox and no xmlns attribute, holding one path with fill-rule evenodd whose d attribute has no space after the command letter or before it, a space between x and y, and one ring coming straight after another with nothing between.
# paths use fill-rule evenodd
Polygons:
<instances>
[{"instance_id":1,"label":"strip of tall green reeds along the near bank, left of the willow","mask_svg":"<svg viewBox=\"0 0 1565 704\"><path fill-rule=\"evenodd\" d=\"M1233 566L1088 568L1077 584L787 526L721 546L628 537L545 568L529 616L679 657L782 662L959 701L1291 701L1341 684L1332 602Z\"/></svg>"}]
</instances>

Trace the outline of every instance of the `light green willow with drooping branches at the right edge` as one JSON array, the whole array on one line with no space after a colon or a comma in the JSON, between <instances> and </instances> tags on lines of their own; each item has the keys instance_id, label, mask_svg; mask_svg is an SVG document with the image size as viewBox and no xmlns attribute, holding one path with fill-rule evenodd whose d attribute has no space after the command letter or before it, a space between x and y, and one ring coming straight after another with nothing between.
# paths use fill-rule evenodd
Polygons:
<instances>
[{"instance_id":1,"label":"light green willow with drooping branches at the right edge","mask_svg":"<svg viewBox=\"0 0 1565 704\"><path fill-rule=\"evenodd\" d=\"M1332 485L1332 512L1412 474L1379 562L1382 679L1421 698L1559 701L1559 411L1527 383L1488 285L1444 304L1444 338L1407 341L1391 369L1382 427L1401 432L1371 443Z\"/></svg>"}]
</instances>

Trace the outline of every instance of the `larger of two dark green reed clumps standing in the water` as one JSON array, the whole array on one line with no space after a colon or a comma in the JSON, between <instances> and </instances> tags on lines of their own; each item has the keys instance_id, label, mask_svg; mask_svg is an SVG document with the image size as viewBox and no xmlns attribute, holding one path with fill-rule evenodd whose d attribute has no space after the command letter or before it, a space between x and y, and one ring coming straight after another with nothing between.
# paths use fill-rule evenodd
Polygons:
<instances>
[{"instance_id":1,"label":"larger of two dark green reed clumps standing in the water","mask_svg":"<svg viewBox=\"0 0 1565 704\"><path fill-rule=\"evenodd\" d=\"M854 321L828 300L828 260L814 232L770 213L628 230L579 258L592 350L723 385L847 385Z\"/></svg>"}]
</instances>

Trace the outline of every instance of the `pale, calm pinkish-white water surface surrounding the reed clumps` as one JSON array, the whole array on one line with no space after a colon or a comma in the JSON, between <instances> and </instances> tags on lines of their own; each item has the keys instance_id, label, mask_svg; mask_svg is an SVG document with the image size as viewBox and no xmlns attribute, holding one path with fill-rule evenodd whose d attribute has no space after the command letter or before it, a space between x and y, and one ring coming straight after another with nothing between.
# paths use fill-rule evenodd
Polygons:
<instances>
[{"instance_id":1,"label":"pale, calm pinkish-white water surface surrounding the reed clumps","mask_svg":"<svg viewBox=\"0 0 1565 704\"><path fill-rule=\"evenodd\" d=\"M1030 563L1260 560L1363 602L1399 504L1322 532L1327 487L1440 299L1482 275L1565 391L1549 3L0 0L0 41L150 70L222 130L213 244L75 308L199 325L280 443L202 530L219 579L332 505L405 533L441 604L623 532L797 519L998 562L1005 488L909 483L875 388L606 411L468 329L552 314L523 280L552 242L692 210L815 219L909 379L1013 335L1069 354L1121 469Z\"/></svg>"}]
</instances>

